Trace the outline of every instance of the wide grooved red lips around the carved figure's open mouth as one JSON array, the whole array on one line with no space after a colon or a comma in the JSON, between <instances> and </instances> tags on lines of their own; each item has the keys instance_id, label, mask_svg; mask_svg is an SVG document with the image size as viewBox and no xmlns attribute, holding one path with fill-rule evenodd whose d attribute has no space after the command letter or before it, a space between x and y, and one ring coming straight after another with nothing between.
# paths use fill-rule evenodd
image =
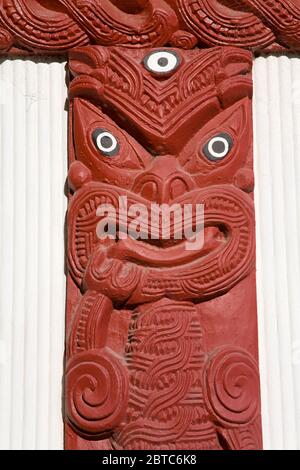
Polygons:
<instances>
[{"instance_id":1,"label":"wide grooved red lips around the carved figure's open mouth","mask_svg":"<svg viewBox=\"0 0 300 470\"><path fill-rule=\"evenodd\" d=\"M253 203L232 186L195 190L176 201L204 205L204 244L189 249L185 241L165 247L130 238L100 242L97 203L110 201L118 209L121 190L98 183L84 189L69 211L69 263L84 288L127 304L164 296L201 301L227 292L254 267ZM124 195L129 204L142 201L122 190Z\"/></svg>"}]
</instances>

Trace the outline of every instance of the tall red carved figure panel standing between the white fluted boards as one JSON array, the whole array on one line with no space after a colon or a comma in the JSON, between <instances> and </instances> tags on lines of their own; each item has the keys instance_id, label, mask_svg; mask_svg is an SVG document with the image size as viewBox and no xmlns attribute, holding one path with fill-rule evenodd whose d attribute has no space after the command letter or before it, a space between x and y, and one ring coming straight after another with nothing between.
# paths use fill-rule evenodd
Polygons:
<instances>
[{"instance_id":1,"label":"tall red carved figure panel standing between the white fluted boards","mask_svg":"<svg viewBox=\"0 0 300 470\"><path fill-rule=\"evenodd\" d=\"M67 448L261 447L251 67L231 47L70 55ZM175 217L123 239L125 196L203 204L203 246Z\"/></svg>"}]
</instances>

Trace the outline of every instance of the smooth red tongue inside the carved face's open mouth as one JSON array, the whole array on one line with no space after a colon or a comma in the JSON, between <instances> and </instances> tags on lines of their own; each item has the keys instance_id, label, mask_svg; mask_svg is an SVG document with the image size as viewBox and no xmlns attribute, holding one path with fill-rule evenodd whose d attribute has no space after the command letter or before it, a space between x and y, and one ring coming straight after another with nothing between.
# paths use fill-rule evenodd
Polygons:
<instances>
[{"instance_id":1,"label":"smooth red tongue inside the carved face's open mouth","mask_svg":"<svg viewBox=\"0 0 300 470\"><path fill-rule=\"evenodd\" d=\"M216 249L220 243L220 230L217 227L207 227L204 229L202 245L200 242L198 246L197 243L193 245L192 242L183 242L169 248L160 248L140 240L127 238L111 246L108 249L108 256L151 267L172 267L205 256ZM187 249L188 244L189 249Z\"/></svg>"}]
</instances>

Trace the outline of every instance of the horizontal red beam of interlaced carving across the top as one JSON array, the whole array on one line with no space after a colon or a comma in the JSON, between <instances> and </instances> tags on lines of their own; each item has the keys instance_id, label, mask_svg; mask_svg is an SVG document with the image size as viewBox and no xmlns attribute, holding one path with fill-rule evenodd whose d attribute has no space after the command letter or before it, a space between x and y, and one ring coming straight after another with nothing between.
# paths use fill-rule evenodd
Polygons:
<instances>
[{"instance_id":1,"label":"horizontal red beam of interlaced carving across the top","mask_svg":"<svg viewBox=\"0 0 300 470\"><path fill-rule=\"evenodd\" d=\"M300 50L299 0L0 0L0 52L87 44Z\"/></svg>"}]
</instances>

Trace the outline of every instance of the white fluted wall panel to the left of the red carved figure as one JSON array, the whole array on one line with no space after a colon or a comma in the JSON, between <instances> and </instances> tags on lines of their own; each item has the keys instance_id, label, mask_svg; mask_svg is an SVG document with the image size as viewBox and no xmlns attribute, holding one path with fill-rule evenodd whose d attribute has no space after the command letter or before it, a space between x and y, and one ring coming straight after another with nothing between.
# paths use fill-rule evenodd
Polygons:
<instances>
[{"instance_id":1,"label":"white fluted wall panel to the left of the red carved figure","mask_svg":"<svg viewBox=\"0 0 300 470\"><path fill-rule=\"evenodd\" d=\"M63 447L65 64L0 65L0 448Z\"/></svg>"}]
</instances>

